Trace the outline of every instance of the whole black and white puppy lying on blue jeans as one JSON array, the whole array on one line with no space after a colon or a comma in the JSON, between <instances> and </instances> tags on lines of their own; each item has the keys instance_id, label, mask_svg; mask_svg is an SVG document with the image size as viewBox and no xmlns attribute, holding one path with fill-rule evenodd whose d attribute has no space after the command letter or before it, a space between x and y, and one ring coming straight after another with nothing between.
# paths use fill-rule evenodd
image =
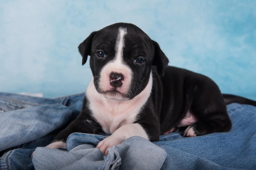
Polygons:
<instances>
[{"instance_id":1,"label":"whole black and white puppy lying on blue jeans","mask_svg":"<svg viewBox=\"0 0 256 170\"><path fill-rule=\"evenodd\" d=\"M91 33L79 45L92 81L80 115L49 148L66 147L73 132L110 134L103 153L131 136L158 141L186 127L184 136L227 132L231 121L216 83L207 76L168 65L159 45L133 24L117 23Z\"/></svg>"}]
</instances>

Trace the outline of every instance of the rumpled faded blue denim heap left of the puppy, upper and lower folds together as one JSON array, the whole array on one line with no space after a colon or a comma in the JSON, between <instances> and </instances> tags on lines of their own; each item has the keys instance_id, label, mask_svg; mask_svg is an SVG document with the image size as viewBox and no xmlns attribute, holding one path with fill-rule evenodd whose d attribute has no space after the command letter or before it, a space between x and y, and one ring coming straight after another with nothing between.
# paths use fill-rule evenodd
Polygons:
<instances>
[{"instance_id":1,"label":"rumpled faded blue denim heap left of the puppy, upper and lower folds together","mask_svg":"<svg viewBox=\"0 0 256 170\"><path fill-rule=\"evenodd\" d=\"M83 93L56 99L0 93L0 151L60 128L80 113L83 98Z\"/></svg>"}]
</instances>

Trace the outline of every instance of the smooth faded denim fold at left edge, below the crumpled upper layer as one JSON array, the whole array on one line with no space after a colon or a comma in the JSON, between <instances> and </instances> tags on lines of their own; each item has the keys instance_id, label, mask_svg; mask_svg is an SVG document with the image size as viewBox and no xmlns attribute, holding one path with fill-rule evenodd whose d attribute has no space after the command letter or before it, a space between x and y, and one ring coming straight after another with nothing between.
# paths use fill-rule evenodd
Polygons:
<instances>
[{"instance_id":1,"label":"smooth faded denim fold at left edge, below the crumpled upper layer","mask_svg":"<svg viewBox=\"0 0 256 170\"><path fill-rule=\"evenodd\" d=\"M47 135L66 124L73 112L54 104L1 113L0 151Z\"/></svg>"}]
</instances>

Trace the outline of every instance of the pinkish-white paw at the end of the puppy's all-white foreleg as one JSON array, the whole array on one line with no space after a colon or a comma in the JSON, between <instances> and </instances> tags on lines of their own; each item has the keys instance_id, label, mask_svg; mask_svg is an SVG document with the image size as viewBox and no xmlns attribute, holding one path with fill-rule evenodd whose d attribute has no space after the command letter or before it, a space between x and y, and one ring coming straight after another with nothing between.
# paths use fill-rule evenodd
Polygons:
<instances>
[{"instance_id":1,"label":"pinkish-white paw at the end of the puppy's all-white foreleg","mask_svg":"<svg viewBox=\"0 0 256 170\"><path fill-rule=\"evenodd\" d=\"M121 144L122 142L124 142L124 138L122 137L115 137L113 135L110 135L109 137L103 139L101 142L99 142L99 144L96 146L96 148L99 148L99 150L101 150L101 152L104 155L108 154L108 149L112 146Z\"/></svg>"}]
</instances>

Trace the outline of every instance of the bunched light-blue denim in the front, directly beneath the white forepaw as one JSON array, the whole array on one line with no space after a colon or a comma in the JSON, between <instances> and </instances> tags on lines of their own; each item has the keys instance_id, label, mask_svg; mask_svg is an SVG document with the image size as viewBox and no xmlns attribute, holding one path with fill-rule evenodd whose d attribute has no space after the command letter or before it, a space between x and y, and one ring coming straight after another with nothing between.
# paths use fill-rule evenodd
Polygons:
<instances>
[{"instance_id":1,"label":"bunched light-blue denim in the front, directly beneath the white forepaw","mask_svg":"<svg viewBox=\"0 0 256 170\"><path fill-rule=\"evenodd\" d=\"M108 155L95 146L104 136L73 133L67 139L67 151L36 148L32 159L35 169L160 169L166 152L141 137L130 137L109 149ZM56 161L58 160L58 161ZM86 168L85 168L86 167Z\"/></svg>"}]
</instances>

